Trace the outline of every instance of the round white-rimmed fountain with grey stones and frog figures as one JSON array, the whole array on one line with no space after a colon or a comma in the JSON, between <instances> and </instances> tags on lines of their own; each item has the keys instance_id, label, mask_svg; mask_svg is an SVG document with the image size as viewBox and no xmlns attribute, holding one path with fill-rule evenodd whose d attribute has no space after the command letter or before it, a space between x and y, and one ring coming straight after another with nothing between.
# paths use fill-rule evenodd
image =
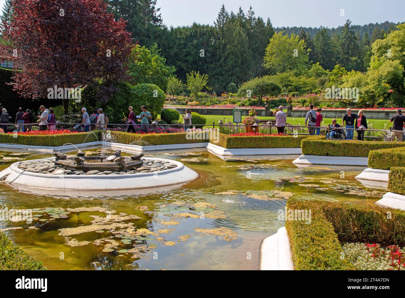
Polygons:
<instances>
[{"instance_id":1,"label":"round white-rimmed fountain with grey stones and frog figures","mask_svg":"<svg viewBox=\"0 0 405 298\"><path fill-rule=\"evenodd\" d=\"M53 152L55 157L13 163L0 172L0 181L24 189L57 191L131 190L160 188L184 184L198 177L192 169L178 161L123 156L121 150L105 157L77 154L68 156ZM46 192L46 191L45 191ZM44 191L42 191L44 193Z\"/></svg>"}]
</instances>

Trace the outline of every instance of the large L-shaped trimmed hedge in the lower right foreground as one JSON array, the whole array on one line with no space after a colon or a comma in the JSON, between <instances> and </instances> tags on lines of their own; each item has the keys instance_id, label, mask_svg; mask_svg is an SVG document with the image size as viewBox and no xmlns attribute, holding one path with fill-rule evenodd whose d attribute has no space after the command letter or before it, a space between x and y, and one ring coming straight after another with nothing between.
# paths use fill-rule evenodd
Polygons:
<instances>
[{"instance_id":1,"label":"large L-shaped trimmed hedge in the lower right foreground","mask_svg":"<svg viewBox=\"0 0 405 298\"><path fill-rule=\"evenodd\" d=\"M376 205L288 199L287 208L311 210L311 223L286 221L296 270L347 270L339 242L405 245L405 211ZM388 216L388 213L390 212Z\"/></svg>"}]
</instances>

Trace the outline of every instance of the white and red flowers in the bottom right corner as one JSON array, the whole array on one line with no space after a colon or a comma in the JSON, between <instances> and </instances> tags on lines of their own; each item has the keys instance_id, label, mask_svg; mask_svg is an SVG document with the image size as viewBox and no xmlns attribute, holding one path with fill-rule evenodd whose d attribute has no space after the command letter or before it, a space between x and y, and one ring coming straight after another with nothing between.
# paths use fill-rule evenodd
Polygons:
<instances>
[{"instance_id":1,"label":"white and red flowers in the bottom right corner","mask_svg":"<svg viewBox=\"0 0 405 298\"><path fill-rule=\"evenodd\" d=\"M357 270L404 270L405 253L396 245L382 250L379 244L346 243L344 258Z\"/></svg>"}]
</instances>

